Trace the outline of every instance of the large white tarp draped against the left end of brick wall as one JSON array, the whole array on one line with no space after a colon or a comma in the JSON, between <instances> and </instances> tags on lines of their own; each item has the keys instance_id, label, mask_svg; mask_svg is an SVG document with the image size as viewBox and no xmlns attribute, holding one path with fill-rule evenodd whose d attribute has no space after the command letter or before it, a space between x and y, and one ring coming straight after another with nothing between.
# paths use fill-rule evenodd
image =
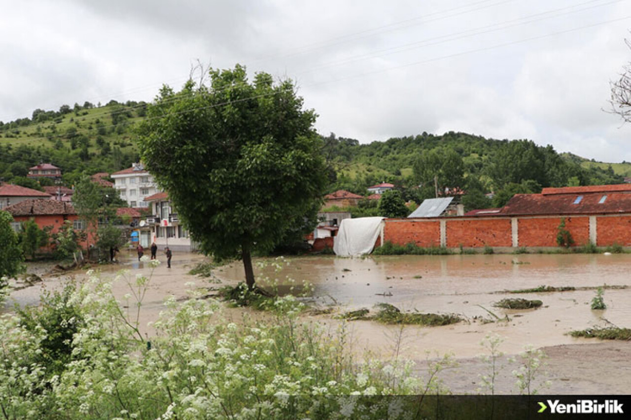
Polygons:
<instances>
[{"instance_id":1,"label":"large white tarp draped against the left end of brick wall","mask_svg":"<svg viewBox=\"0 0 631 420\"><path fill-rule=\"evenodd\" d=\"M381 221L384 218L344 219L339 224L338 236L335 236L333 251L336 255L370 254L381 233Z\"/></svg>"}]
</instances>

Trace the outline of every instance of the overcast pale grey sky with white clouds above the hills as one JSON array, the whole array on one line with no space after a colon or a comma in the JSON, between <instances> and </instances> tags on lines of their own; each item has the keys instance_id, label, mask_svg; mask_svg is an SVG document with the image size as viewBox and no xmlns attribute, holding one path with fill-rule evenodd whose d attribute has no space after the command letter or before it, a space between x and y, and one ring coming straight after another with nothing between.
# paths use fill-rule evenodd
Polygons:
<instances>
[{"instance_id":1,"label":"overcast pale grey sky with white clouds above the hills","mask_svg":"<svg viewBox=\"0 0 631 420\"><path fill-rule=\"evenodd\" d=\"M151 100L200 60L294 79L321 134L531 139L631 161L631 0L0 0L0 120Z\"/></svg>"}]
</instances>

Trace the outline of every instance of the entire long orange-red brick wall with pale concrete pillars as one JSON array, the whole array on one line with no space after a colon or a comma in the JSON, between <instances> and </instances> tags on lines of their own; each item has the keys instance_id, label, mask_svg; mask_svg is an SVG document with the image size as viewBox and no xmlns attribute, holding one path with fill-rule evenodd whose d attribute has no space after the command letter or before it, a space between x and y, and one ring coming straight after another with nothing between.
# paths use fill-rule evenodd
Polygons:
<instances>
[{"instance_id":1,"label":"entire long orange-red brick wall with pale concrete pillars","mask_svg":"<svg viewBox=\"0 0 631 420\"><path fill-rule=\"evenodd\" d=\"M383 240L420 247L558 247L562 219L576 246L591 241L599 247L631 247L631 214L386 219Z\"/></svg>"}]
</instances>

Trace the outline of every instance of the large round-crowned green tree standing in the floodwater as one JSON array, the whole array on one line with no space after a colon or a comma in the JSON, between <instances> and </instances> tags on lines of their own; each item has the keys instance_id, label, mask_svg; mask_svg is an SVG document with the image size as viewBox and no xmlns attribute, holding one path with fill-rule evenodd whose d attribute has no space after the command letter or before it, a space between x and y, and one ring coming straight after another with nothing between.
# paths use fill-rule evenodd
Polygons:
<instances>
[{"instance_id":1,"label":"large round-crowned green tree standing in the floodwater","mask_svg":"<svg viewBox=\"0 0 631 420\"><path fill-rule=\"evenodd\" d=\"M295 86L245 67L211 70L209 86L164 87L139 128L146 168L204 252L241 258L316 223L326 189L322 139Z\"/></svg>"}]
</instances>

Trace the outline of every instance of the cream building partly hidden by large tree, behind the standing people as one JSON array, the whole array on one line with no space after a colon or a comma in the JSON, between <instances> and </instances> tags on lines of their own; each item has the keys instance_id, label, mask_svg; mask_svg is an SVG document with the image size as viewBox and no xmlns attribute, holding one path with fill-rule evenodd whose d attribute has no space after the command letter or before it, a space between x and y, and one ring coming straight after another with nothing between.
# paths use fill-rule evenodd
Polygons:
<instances>
[{"instance_id":1,"label":"cream building partly hidden by large tree, behind the standing people","mask_svg":"<svg viewBox=\"0 0 631 420\"><path fill-rule=\"evenodd\" d=\"M194 243L191 242L189 231L180 225L177 211L166 192L158 192L145 197L144 201L148 203L151 214L140 221L140 245L149 247L152 242L155 242L160 249L167 246L174 251L196 249Z\"/></svg>"}]
</instances>

